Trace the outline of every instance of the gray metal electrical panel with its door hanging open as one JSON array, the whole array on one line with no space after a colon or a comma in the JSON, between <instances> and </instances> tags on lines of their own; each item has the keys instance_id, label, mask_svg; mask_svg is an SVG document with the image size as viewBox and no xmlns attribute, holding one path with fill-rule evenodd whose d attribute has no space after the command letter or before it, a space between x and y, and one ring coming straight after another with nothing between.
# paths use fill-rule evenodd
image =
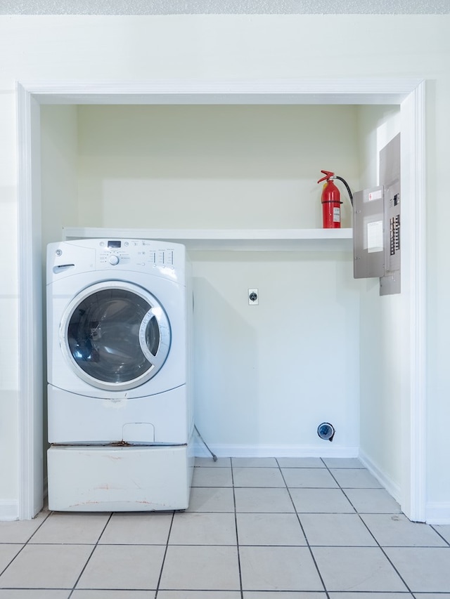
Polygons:
<instances>
[{"instance_id":1,"label":"gray metal electrical panel with its door hanging open","mask_svg":"<svg viewBox=\"0 0 450 599\"><path fill-rule=\"evenodd\" d=\"M380 185L353 196L354 278L400 293L400 134L380 152Z\"/></svg>"}]
</instances>

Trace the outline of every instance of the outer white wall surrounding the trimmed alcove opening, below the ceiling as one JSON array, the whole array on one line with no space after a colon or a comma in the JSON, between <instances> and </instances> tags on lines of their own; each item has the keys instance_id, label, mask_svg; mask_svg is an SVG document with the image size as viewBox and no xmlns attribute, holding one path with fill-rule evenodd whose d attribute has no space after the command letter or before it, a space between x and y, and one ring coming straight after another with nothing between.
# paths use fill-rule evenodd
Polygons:
<instances>
[{"instance_id":1,"label":"outer white wall surrounding the trimmed alcove opening, below the ceiling","mask_svg":"<svg viewBox=\"0 0 450 599\"><path fill-rule=\"evenodd\" d=\"M15 81L188 79L295 79L297 77L423 77L427 85L428 232L428 503L450 510L450 480L440 468L449 456L446 366L450 281L446 245L450 130L449 15L175 15L158 17L0 17L1 226L11 248L18 239L15 157ZM373 32L383 32L376 37ZM389 40L383 44L379 40ZM232 43L231 43L232 40ZM324 167L326 168L326 167ZM10 256L14 256L12 251ZM12 258L15 261L15 258ZM12 270L12 272L11 272ZM18 496L15 428L17 336L11 313L17 282L11 261L1 263L0 326L11 338L2 356L0 422L8 422L1 449L1 496ZM10 426L11 423L13 426ZM4 424L2 424L4 426Z\"/></svg>"}]
</instances>

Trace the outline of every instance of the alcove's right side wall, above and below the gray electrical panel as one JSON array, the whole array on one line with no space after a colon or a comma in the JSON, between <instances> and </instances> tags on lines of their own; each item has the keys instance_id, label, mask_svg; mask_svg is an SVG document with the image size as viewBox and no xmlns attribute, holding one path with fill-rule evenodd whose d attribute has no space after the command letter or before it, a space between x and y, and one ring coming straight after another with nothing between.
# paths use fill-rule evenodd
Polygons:
<instances>
[{"instance_id":1,"label":"alcove's right side wall, above and below the gray electrical panel","mask_svg":"<svg viewBox=\"0 0 450 599\"><path fill-rule=\"evenodd\" d=\"M400 132L399 107L359 107L361 187L380 184L380 150ZM402 197L406 204L407 197ZM405 210L407 206L405 205ZM380 280L361 287L360 454L401 499L401 296L380 296Z\"/></svg>"}]
</instances>

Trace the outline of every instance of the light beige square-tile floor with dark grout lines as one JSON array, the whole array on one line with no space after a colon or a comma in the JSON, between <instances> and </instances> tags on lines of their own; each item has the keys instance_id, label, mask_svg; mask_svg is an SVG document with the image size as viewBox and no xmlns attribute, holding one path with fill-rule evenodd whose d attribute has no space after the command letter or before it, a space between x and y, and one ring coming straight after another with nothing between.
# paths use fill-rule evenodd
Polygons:
<instances>
[{"instance_id":1,"label":"light beige square-tile floor with dark grout lines","mask_svg":"<svg viewBox=\"0 0 450 599\"><path fill-rule=\"evenodd\" d=\"M450 526L356 459L197 459L191 505L0 522L0 599L450 599Z\"/></svg>"}]
</instances>

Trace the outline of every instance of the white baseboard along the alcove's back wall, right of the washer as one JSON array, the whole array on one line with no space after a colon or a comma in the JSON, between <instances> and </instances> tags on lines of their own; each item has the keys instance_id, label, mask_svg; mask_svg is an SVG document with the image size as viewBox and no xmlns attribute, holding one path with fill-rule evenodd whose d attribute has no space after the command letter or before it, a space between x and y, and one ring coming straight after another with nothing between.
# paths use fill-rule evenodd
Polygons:
<instances>
[{"instance_id":1,"label":"white baseboard along the alcove's back wall, right of the washer","mask_svg":"<svg viewBox=\"0 0 450 599\"><path fill-rule=\"evenodd\" d=\"M219 458L356 458L358 456L358 447L340 447L330 442L324 442L324 445L211 444L209 447ZM210 456L200 440L195 441L194 452L196 457Z\"/></svg>"}]
</instances>

